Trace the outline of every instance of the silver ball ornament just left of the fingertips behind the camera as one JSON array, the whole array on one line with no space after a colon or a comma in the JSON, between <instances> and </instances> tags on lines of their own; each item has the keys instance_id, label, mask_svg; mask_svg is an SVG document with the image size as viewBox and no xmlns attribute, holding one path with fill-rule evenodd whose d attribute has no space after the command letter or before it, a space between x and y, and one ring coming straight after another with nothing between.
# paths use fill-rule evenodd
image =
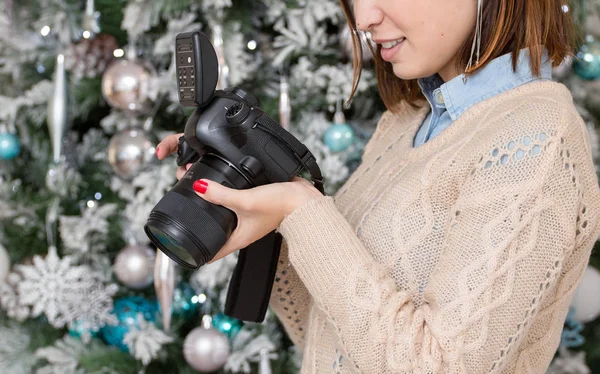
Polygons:
<instances>
[{"instance_id":1,"label":"silver ball ornament just left of the fingertips behind the camera","mask_svg":"<svg viewBox=\"0 0 600 374\"><path fill-rule=\"evenodd\" d=\"M135 177L154 157L154 144L141 129L125 129L108 143L108 162L123 179Z\"/></svg>"}]
</instances>

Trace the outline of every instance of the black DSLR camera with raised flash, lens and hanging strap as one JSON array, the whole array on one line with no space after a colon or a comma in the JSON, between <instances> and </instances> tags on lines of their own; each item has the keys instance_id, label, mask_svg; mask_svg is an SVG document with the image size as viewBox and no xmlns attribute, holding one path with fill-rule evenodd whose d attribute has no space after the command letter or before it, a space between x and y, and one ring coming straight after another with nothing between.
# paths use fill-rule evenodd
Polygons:
<instances>
[{"instance_id":1,"label":"black DSLR camera with raised flash, lens and hanging strap","mask_svg":"<svg viewBox=\"0 0 600 374\"><path fill-rule=\"evenodd\" d=\"M179 138L177 164L192 163L187 173L153 208L144 230L152 243L179 265L197 269L223 247L237 219L194 192L205 178L235 189L287 182L307 171L323 192L313 154L258 107L248 91L215 90L218 61L214 47L199 31L178 34L175 57L179 101L196 107ZM240 251L225 304L225 314L261 322L277 269L281 235L275 231Z\"/></svg>"}]
</instances>

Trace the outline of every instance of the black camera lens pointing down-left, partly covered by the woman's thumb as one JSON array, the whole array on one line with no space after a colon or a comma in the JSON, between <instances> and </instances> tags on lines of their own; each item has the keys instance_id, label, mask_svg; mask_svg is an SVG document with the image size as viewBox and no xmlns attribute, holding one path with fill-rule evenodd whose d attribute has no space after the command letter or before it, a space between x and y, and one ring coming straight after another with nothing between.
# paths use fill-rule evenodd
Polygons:
<instances>
[{"instance_id":1,"label":"black camera lens pointing down-left, partly covered by the woman's thumb","mask_svg":"<svg viewBox=\"0 0 600 374\"><path fill-rule=\"evenodd\" d=\"M144 226L154 245L190 269L215 257L237 224L235 213L196 195L193 183L202 178L236 189L251 187L227 160L205 155L156 204Z\"/></svg>"}]
</instances>

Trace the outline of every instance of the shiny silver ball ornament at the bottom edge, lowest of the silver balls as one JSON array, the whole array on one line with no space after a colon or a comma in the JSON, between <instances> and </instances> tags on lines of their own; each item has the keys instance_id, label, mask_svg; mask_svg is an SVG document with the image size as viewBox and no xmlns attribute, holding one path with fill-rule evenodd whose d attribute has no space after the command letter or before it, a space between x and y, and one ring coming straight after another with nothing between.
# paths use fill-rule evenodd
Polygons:
<instances>
[{"instance_id":1,"label":"shiny silver ball ornament at the bottom edge, lowest of the silver balls","mask_svg":"<svg viewBox=\"0 0 600 374\"><path fill-rule=\"evenodd\" d=\"M197 327L183 342L185 361L201 373L219 370L229 357L229 340L214 328Z\"/></svg>"}]
</instances>

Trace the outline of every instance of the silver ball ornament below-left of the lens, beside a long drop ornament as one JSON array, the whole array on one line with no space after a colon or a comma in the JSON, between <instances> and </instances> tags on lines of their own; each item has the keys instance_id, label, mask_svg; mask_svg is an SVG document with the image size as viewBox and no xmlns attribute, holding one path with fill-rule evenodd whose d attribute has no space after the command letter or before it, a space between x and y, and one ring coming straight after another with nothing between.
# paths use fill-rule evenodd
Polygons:
<instances>
[{"instance_id":1,"label":"silver ball ornament below-left of the lens, beside a long drop ornament","mask_svg":"<svg viewBox=\"0 0 600 374\"><path fill-rule=\"evenodd\" d=\"M154 281L155 258L155 252L150 247L129 245L121 249L115 259L115 275L129 288L146 288Z\"/></svg>"}]
</instances>

